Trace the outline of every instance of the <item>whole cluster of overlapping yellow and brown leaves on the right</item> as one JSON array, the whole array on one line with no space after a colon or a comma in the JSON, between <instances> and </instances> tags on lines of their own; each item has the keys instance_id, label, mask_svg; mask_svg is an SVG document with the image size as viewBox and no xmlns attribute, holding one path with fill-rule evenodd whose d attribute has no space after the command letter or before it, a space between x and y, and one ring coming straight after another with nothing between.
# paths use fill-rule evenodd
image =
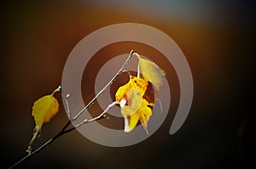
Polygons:
<instances>
[{"instance_id":1,"label":"whole cluster of overlapping yellow and brown leaves on the right","mask_svg":"<svg viewBox=\"0 0 256 169\"><path fill-rule=\"evenodd\" d=\"M134 54L139 60L137 77L130 75L129 82L119 87L115 98L125 119L125 132L131 132L140 121L148 134L148 121L154 107L153 86L156 92L159 92L166 74L154 62L141 58L137 53ZM160 103L160 99L156 98L156 100Z\"/></svg>"}]
</instances>

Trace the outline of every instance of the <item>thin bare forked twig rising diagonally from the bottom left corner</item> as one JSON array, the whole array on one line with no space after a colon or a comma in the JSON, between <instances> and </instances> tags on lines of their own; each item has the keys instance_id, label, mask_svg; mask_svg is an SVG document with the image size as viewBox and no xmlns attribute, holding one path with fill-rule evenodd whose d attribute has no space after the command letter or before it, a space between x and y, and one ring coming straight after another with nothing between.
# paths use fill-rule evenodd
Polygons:
<instances>
[{"instance_id":1,"label":"thin bare forked twig rising diagonally from the bottom left corner","mask_svg":"<svg viewBox=\"0 0 256 169\"><path fill-rule=\"evenodd\" d=\"M131 50L131 53L129 54L128 58L125 60L125 63L124 65L122 65L122 67L119 69L119 71L116 73L115 76L113 76L113 78L111 79L110 82L108 82L108 84L102 88L102 90L96 94L96 97L91 99L89 104L85 105L84 108L82 110L79 111L79 113L77 115L75 115L73 118L71 117L71 114L70 114L70 110L69 110L69 106L68 106L68 95L66 95L66 101L67 101L67 111L68 111L68 114L69 114L69 120L67 121L67 123L64 125L64 127L62 127L61 131L58 132L53 138L50 138L46 143L44 143L43 145L41 145L38 149L32 151L30 154L26 155L25 157L23 157L20 161L17 161L14 165L10 166L9 169L11 168L15 168L15 166L19 166L20 164L22 164L23 162L25 161L28 161L30 158L32 158L33 155L36 155L38 154L38 152L40 152L42 149L45 149L49 144L53 143L57 138L60 138L62 135L66 134L67 132L72 132L74 129L77 128L76 127L72 127L72 128L69 128L67 129L67 127L71 124L72 121L75 121L79 118L80 115L82 115L84 113L84 110L87 110L88 107L90 107L91 104L93 104L95 102L95 100L107 89L107 87L109 87L113 82L114 80L119 76L119 74L124 70L125 68L125 65L128 64L128 62L130 61L131 59L131 56L133 54L133 50ZM89 122L92 122L92 121L98 121L100 119L102 119L104 117L104 115L106 114L106 112L114 105L116 104L116 102L113 102L112 104L109 104L108 105L108 108L106 110L104 110L102 112L101 115L98 115L96 116L95 118L92 118L90 120L84 120L86 122L84 122L84 124L87 124ZM79 125L79 127L83 126L84 124L81 124Z\"/></svg>"}]
</instances>

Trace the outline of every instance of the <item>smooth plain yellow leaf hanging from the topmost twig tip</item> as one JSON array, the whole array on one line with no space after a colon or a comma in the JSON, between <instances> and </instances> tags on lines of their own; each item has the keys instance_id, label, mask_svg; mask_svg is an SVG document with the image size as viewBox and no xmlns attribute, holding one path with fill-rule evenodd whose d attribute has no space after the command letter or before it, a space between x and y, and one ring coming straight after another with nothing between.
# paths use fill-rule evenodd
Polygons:
<instances>
[{"instance_id":1,"label":"smooth plain yellow leaf hanging from the topmost twig tip","mask_svg":"<svg viewBox=\"0 0 256 169\"><path fill-rule=\"evenodd\" d=\"M152 82L157 91L160 91L160 87L163 84L163 77L166 76L164 70L162 70L158 65L154 62L149 61L148 59L142 59L139 54L137 55L139 59L138 63L138 76L139 73L143 75L143 78Z\"/></svg>"}]
</instances>

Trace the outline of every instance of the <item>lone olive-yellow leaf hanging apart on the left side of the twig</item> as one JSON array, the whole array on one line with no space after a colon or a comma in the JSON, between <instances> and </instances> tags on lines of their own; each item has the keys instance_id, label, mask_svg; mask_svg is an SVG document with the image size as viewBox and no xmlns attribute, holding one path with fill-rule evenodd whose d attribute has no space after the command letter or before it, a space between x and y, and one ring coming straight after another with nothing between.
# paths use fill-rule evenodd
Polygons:
<instances>
[{"instance_id":1,"label":"lone olive-yellow leaf hanging apart on the left side of the twig","mask_svg":"<svg viewBox=\"0 0 256 169\"><path fill-rule=\"evenodd\" d=\"M50 95L46 95L34 102L32 106L32 116L34 117L36 127L34 128L33 136L29 143L27 152L31 153L33 141L40 135L44 122L50 121L50 119L58 112L59 103L57 99L55 99L54 94L56 92L60 92L60 90L61 87L58 87Z\"/></svg>"}]
</instances>

